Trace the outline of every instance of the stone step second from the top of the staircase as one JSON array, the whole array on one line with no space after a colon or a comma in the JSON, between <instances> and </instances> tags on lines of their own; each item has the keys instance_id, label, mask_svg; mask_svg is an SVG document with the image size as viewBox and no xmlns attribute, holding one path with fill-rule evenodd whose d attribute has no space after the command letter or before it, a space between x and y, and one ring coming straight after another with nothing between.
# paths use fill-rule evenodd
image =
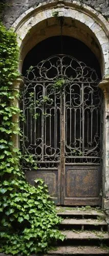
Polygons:
<instances>
[{"instance_id":1,"label":"stone step second from the top of the staircase","mask_svg":"<svg viewBox=\"0 0 109 256\"><path fill-rule=\"evenodd\" d=\"M93 220L93 219L63 219L60 225L94 225L94 226L106 226L106 221Z\"/></svg>"}]
</instances>

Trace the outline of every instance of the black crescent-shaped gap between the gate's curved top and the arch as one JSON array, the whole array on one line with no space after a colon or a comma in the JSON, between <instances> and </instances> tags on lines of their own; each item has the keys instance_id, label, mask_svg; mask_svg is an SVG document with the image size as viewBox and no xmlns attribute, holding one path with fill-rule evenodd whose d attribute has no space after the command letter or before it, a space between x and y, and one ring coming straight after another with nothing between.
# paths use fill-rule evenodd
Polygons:
<instances>
[{"instance_id":1,"label":"black crescent-shaped gap between the gate's curved top and the arch","mask_svg":"<svg viewBox=\"0 0 109 256\"><path fill-rule=\"evenodd\" d=\"M85 65L96 70L101 79L100 65L94 53L80 40L70 36L53 36L37 44L25 57L23 75L30 66L36 66L39 61L56 54L71 55Z\"/></svg>"}]
</instances>

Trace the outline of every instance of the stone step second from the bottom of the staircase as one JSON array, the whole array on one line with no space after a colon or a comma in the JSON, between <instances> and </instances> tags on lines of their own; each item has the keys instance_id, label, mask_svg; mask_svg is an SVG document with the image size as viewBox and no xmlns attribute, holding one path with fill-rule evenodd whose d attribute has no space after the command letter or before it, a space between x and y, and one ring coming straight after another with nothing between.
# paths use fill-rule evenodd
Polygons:
<instances>
[{"instance_id":1,"label":"stone step second from the bottom of the staircase","mask_svg":"<svg viewBox=\"0 0 109 256\"><path fill-rule=\"evenodd\" d=\"M61 231L64 236L66 236L66 240L107 240L109 239L109 234L107 232L101 231L72 231L72 230L62 230Z\"/></svg>"}]
</instances>

